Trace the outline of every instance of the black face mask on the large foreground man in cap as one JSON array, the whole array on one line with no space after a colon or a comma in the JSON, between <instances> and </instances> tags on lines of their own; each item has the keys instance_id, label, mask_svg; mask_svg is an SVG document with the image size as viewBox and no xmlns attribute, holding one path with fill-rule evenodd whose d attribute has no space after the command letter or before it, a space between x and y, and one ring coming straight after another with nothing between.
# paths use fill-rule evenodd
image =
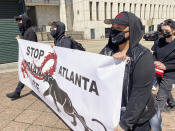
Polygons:
<instances>
[{"instance_id":1,"label":"black face mask on the large foreground man in cap","mask_svg":"<svg viewBox=\"0 0 175 131\"><path fill-rule=\"evenodd\" d=\"M126 32L129 32L129 31L119 31L119 30L112 29L111 30L112 43L115 44L116 46L125 43L128 40L127 38L125 38Z\"/></svg>"}]
</instances>

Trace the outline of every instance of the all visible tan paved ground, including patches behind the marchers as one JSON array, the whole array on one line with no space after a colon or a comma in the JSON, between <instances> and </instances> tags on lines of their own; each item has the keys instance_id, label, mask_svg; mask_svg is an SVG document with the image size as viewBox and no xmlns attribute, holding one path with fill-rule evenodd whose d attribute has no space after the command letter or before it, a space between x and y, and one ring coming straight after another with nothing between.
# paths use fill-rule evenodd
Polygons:
<instances>
[{"instance_id":1,"label":"all visible tan paved ground, including patches behind the marchers","mask_svg":"<svg viewBox=\"0 0 175 131\"><path fill-rule=\"evenodd\" d=\"M98 53L107 40L83 40L79 42L87 51ZM149 49L153 44L150 41L142 41L142 43ZM0 131L70 131L30 88L24 87L20 99L8 99L6 93L12 92L17 83L17 63L1 64ZM175 97L175 88L172 93ZM175 111L162 113L162 118L163 131L175 131Z\"/></svg>"}]
</instances>

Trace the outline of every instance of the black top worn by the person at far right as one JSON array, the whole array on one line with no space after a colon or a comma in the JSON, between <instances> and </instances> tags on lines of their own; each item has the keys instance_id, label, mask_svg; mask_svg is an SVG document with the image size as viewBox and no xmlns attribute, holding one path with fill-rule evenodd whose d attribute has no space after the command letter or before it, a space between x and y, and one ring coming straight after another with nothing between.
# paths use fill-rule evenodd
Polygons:
<instances>
[{"instance_id":1,"label":"black top worn by the person at far right","mask_svg":"<svg viewBox=\"0 0 175 131\"><path fill-rule=\"evenodd\" d=\"M155 41L152 47L154 60L161 61L166 66L164 78L175 79L175 40L166 42L165 38Z\"/></svg>"}]
</instances>

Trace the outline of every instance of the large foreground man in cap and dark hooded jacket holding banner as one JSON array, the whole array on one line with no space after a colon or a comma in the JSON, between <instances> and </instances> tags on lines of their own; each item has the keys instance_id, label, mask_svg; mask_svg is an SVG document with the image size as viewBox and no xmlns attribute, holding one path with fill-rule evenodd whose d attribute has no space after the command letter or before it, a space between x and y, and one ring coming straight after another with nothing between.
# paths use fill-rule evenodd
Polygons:
<instances>
[{"instance_id":1,"label":"large foreground man in cap and dark hooded jacket holding banner","mask_svg":"<svg viewBox=\"0 0 175 131\"><path fill-rule=\"evenodd\" d=\"M151 52L139 44L143 25L132 13L119 13L112 24L108 44L100 54L127 61L122 93L121 117L115 131L149 131L149 120L156 109L151 88L154 79L154 63ZM146 68L145 68L146 66Z\"/></svg>"}]
</instances>

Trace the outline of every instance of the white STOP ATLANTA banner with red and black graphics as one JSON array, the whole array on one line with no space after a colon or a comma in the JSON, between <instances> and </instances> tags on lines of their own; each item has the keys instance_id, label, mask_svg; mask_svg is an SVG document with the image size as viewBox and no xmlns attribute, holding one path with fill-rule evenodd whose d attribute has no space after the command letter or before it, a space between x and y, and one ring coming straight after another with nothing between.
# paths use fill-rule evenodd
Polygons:
<instances>
[{"instance_id":1,"label":"white STOP ATLANTA banner with red and black graphics","mask_svg":"<svg viewBox=\"0 0 175 131\"><path fill-rule=\"evenodd\" d=\"M125 62L18 40L19 79L75 131L113 131L120 119Z\"/></svg>"}]
</instances>

